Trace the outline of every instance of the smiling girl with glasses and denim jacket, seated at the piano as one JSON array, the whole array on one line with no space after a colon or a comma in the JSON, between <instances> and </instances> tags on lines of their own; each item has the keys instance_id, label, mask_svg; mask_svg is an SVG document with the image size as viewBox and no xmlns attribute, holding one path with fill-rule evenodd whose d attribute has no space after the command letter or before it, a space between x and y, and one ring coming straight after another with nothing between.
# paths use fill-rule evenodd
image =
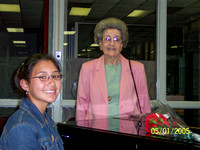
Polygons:
<instances>
[{"instance_id":1,"label":"smiling girl with glasses and denim jacket, seated at the piano","mask_svg":"<svg viewBox=\"0 0 200 150\"><path fill-rule=\"evenodd\" d=\"M19 66L15 84L25 97L4 127L1 150L64 149L56 124L45 112L60 92L61 78L58 63L49 55L34 54Z\"/></svg>"}]
</instances>

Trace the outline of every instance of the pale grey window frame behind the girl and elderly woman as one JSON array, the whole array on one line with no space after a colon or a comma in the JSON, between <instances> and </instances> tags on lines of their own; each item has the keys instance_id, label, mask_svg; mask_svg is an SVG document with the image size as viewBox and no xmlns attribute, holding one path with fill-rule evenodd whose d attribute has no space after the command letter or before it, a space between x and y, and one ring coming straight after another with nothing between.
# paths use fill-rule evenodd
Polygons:
<instances>
[{"instance_id":1,"label":"pale grey window frame behind the girl and elderly woman","mask_svg":"<svg viewBox=\"0 0 200 150\"><path fill-rule=\"evenodd\" d=\"M66 3L68 1L66 0ZM67 6L65 1L49 0L49 31L53 31L49 35L49 54L56 56L56 51L62 52L61 68L64 69L65 52L63 49L64 24L66 16L64 9ZM172 108L181 109L200 109L199 101L167 101L166 100L166 58L167 58L167 1L157 0L157 24L156 24L156 52L157 52L157 83L156 83L156 100L169 104ZM77 54L76 54L77 55ZM76 56L75 55L75 56ZM63 70L64 71L64 70ZM63 91L59 94L56 102L49 107L52 108L52 118L55 122L62 122L62 107L75 108L76 100L64 100L62 98ZM20 104L19 99L0 99L0 107L17 107Z\"/></svg>"}]
</instances>

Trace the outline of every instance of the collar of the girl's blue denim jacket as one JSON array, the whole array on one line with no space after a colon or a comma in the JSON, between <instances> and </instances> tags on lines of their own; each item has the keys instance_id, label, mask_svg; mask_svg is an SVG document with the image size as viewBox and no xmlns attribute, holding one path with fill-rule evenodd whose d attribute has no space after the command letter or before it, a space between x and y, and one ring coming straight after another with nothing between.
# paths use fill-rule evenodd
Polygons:
<instances>
[{"instance_id":1,"label":"collar of the girl's blue denim jacket","mask_svg":"<svg viewBox=\"0 0 200 150\"><path fill-rule=\"evenodd\" d=\"M40 124L42 128L47 124L43 115L38 110L38 108L27 98L25 97L22 98L20 109L23 109L27 113L29 113L29 115L31 115ZM46 112L45 112L45 117L49 122L50 118Z\"/></svg>"}]
</instances>

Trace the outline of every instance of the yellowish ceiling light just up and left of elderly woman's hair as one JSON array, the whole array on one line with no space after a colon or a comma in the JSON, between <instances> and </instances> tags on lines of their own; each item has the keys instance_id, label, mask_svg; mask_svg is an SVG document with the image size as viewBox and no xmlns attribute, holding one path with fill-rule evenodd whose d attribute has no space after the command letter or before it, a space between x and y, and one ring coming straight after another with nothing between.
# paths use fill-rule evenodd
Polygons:
<instances>
[{"instance_id":1,"label":"yellowish ceiling light just up and left of elderly woman's hair","mask_svg":"<svg viewBox=\"0 0 200 150\"><path fill-rule=\"evenodd\" d=\"M69 15L71 16L87 16L91 8L72 7Z\"/></svg>"}]
</instances>

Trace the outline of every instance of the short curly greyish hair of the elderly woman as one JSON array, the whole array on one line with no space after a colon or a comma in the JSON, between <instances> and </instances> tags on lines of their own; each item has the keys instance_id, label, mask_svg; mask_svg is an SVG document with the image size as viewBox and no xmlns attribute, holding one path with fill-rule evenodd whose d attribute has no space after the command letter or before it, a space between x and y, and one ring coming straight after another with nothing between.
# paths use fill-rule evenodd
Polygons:
<instances>
[{"instance_id":1,"label":"short curly greyish hair of the elderly woman","mask_svg":"<svg viewBox=\"0 0 200 150\"><path fill-rule=\"evenodd\" d=\"M117 18L106 18L97 23L94 29L94 41L97 44L103 40L104 31L107 29L118 29L121 32L123 47L128 43L128 28L125 22Z\"/></svg>"}]
</instances>

